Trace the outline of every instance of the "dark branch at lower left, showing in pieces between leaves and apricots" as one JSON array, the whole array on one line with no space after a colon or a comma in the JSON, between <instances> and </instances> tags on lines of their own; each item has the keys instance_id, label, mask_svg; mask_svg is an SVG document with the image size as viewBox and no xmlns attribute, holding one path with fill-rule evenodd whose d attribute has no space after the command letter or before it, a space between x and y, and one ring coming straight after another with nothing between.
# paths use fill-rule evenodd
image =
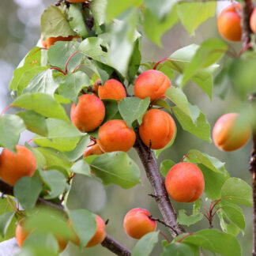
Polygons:
<instances>
[{"instance_id":1,"label":"dark branch at lower left, showing in pieces between leaves and apricots","mask_svg":"<svg viewBox=\"0 0 256 256\"><path fill-rule=\"evenodd\" d=\"M0 192L2 192L2 194L9 194L13 196L13 186L5 183L4 181L2 181L2 179L0 179ZM36 204L47 205L52 208L61 210L63 213L65 213L63 205L55 203L53 201L47 201L43 198L38 198ZM130 250L123 246L122 243L119 243L117 240L113 239L111 235L107 235L101 245L103 247L106 247L108 250L111 250L114 254L121 256L130 256Z\"/></svg>"}]
</instances>

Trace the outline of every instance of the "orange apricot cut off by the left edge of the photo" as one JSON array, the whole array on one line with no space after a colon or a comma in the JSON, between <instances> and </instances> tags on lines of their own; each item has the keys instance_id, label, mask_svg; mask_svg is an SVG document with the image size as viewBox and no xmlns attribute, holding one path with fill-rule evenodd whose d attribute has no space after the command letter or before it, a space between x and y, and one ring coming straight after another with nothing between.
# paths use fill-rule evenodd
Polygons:
<instances>
[{"instance_id":1,"label":"orange apricot cut off by the left edge of the photo","mask_svg":"<svg viewBox=\"0 0 256 256\"><path fill-rule=\"evenodd\" d=\"M23 145L16 146L17 153L4 149L0 156L1 179L15 185L23 176L32 177L36 171L36 157Z\"/></svg>"}]
</instances>

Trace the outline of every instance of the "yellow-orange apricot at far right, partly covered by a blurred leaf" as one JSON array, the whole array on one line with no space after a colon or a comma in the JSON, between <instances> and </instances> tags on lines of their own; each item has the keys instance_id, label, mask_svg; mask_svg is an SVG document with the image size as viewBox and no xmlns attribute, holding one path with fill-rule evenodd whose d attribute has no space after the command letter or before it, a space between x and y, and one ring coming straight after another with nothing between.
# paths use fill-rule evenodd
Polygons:
<instances>
[{"instance_id":1,"label":"yellow-orange apricot at far right, partly covered by a blurred leaf","mask_svg":"<svg viewBox=\"0 0 256 256\"><path fill-rule=\"evenodd\" d=\"M233 151L243 147L250 138L250 124L238 121L239 114L222 115L213 126L213 142L218 149Z\"/></svg>"}]
</instances>

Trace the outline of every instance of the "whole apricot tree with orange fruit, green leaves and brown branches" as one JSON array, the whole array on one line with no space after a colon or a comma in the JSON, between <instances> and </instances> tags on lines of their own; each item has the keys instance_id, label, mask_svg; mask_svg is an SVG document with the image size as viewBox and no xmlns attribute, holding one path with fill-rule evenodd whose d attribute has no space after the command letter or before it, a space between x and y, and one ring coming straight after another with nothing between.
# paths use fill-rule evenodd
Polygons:
<instances>
[{"instance_id":1,"label":"whole apricot tree with orange fruit, green leaves and brown branches","mask_svg":"<svg viewBox=\"0 0 256 256\"><path fill-rule=\"evenodd\" d=\"M0 116L0 145L5 148L0 156L0 232L3 239L16 233L21 255L58 255L73 243L148 256L161 234L164 256L205 251L239 256L236 237L245 232L239 205L254 205L256 255L256 73L251 71L256 18L251 0L229 2L221 11L216 23L224 40L184 46L159 62L141 61L143 36L160 45L162 34L179 21L193 34L215 9L216 1L208 0L59 0L43 12L41 40L14 71L9 85L13 103ZM243 45L237 51L225 40ZM205 114L190 104L183 88L193 82L211 100L213 84L224 79L239 94L240 111L218 119L213 141L232 151L253 134L252 190L231 177L224 163L198 149L184 152L180 163L166 159L160 168L156 164L174 143L177 123L198 140L212 142ZM17 113L6 114L9 107ZM31 141L17 145L24 130L35 134L35 147ZM88 209L71 209L66 202L75 176L100 179L120 190L140 183L140 168L127 153L132 148L153 190L150 198L147 191L137 197L154 199L162 217L140 205L124 216L126 234L138 239L130 250L107 233L108 220ZM190 203L191 214L185 209L176 213L172 200ZM214 216L220 228L213 228ZM187 231L204 217L209 228ZM157 222L166 233L156 229Z\"/></svg>"}]
</instances>

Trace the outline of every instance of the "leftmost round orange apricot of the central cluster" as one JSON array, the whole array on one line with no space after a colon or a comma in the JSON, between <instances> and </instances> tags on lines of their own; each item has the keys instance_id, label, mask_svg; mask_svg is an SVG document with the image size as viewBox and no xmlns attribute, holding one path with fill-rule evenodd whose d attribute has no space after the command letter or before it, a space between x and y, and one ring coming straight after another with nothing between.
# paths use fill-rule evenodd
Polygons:
<instances>
[{"instance_id":1,"label":"leftmost round orange apricot of the central cluster","mask_svg":"<svg viewBox=\"0 0 256 256\"><path fill-rule=\"evenodd\" d=\"M78 104L73 104L70 118L73 125L82 132L96 130L105 117L105 106L102 100L93 94L85 94L78 98Z\"/></svg>"}]
</instances>

